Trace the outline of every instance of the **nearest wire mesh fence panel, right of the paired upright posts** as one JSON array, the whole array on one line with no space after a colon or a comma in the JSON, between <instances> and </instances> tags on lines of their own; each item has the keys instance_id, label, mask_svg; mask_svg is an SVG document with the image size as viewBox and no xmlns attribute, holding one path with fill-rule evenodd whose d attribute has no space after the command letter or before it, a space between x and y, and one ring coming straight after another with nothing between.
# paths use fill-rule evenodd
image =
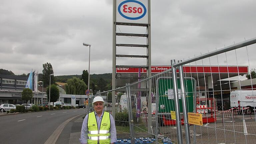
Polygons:
<instances>
[{"instance_id":1,"label":"nearest wire mesh fence panel, right of the paired upright posts","mask_svg":"<svg viewBox=\"0 0 256 144\"><path fill-rule=\"evenodd\" d=\"M255 43L255 39L251 41ZM242 43L234 43L226 47L227 49L224 47L222 50L201 54L173 65L174 67L183 66L185 81L188 77L196 80L194 92L196 101L188 101L188 107L190 103L195 104L194 112L202 116L202 121L200 124L190 126L190 135L193 137L191 143L250 144L255 142L256 97L254 96L256 91L254 86L256 83L253 79L246 78L252 77L250 70L256 66L250 64L250 60L255 60L253 54L255 45L246 46ZM189 93L186 88L187 99L189 99ZM194 121L193 118L199 117L189 115L189 123ZM184 139L183 142L185 142Z\"/></svg>"}]
</instances>

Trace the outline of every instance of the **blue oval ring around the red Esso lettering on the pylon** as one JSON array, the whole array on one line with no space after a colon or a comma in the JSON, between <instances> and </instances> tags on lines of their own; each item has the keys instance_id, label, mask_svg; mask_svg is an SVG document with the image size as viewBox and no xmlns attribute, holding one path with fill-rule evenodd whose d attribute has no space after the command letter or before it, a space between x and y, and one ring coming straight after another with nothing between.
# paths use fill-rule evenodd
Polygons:
<instances>
[{"instance_id":1,"label":"blue oval ring around the red Esso lettering on the pylon","mask_svg":"<svg viewBox=\"0 0 256 144\"><path fill-rule=\"evenodd\" d=\"M137 4L139 4L139 5L141 5L142 6L142 8L141 7L129 7L128 5L125 5L126 3L128 3L128 2L133 2L133 3L137 3ZM123 7L122 7L123 6ZM122 11L121 11L121 8L123 8L122 9ZM144 12L143 12L143 10L144 10ZM146 7L145 7L145 5L143 4L143 3L141 3L141 2L139 2L139 1L136 1L136 0L126 0L126 1L123 1L123 2L121 2L120 4L119 4L119 6L118 6L118 12L119 12L119 14L122 16L122 17L124 17L124 18L126 18L126 19L129 19L129 20L137 20L137 19L141 19L141 18L143 18L145 15L146 15L146 12L147 12L147 9L146 9ZM126 15L124 15L124 13L126 14L128 14L128 13L134 13L134 14L139 14L140 16L138 16L138 17L129 17L129 16L126 16Z\"/></svg>"}]
</instances>

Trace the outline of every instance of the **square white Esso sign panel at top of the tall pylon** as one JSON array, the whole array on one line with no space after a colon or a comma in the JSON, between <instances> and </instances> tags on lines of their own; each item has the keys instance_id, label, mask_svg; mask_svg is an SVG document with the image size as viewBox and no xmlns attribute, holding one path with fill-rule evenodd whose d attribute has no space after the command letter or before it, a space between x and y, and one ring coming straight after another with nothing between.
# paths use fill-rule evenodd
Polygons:
<instances>
[{"instance_id":1,"label":"square white Esso sign panel at top of the tall pylon","mask_svg":"<svg viewBox=\"0 0 256 144\"><path fill-rule=\"evenodd\" d=\"M148 0L117 0L116 22L148 23Z\"/></svg>"}]
</instances>

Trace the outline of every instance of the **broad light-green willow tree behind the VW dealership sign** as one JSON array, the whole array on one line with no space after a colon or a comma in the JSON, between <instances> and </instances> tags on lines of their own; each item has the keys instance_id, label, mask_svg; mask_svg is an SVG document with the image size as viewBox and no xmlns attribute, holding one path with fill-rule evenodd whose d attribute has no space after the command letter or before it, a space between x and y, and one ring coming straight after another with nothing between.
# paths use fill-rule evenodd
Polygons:
<instances>
[{"instance_id":1,"label":"broad light-green willow tree behind the VW dealership sign","mask_svg":"<svg viewBox=\"0 0 256 144\"><path fill-rule=\"evenodd\" d=\"M83 80L77 77L73 77L67 80L65 88L67 94L85 95L87 85L84 83Z\"/></svg>"}]
</instances>

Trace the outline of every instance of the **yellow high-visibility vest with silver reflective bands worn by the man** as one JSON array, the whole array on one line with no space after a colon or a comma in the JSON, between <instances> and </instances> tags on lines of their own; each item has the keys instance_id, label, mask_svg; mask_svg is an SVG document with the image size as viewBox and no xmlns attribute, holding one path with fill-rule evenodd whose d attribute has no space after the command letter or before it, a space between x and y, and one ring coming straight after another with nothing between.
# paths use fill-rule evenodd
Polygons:
<instances>
[{"instance_id":1,"label":"yellow high-visibility vest with silver reflective bands worn by the man","mask_svg":"<svg viewBox=\"0 0 256 144\"><path fill-rule=\"evenodd\" d=\"M87 127L88 144L110 144L110 114L108 112L103 111L103 116L100 122L100 130L98 130L95 113L89 113Z\"/></svg>"}]
</instances>

